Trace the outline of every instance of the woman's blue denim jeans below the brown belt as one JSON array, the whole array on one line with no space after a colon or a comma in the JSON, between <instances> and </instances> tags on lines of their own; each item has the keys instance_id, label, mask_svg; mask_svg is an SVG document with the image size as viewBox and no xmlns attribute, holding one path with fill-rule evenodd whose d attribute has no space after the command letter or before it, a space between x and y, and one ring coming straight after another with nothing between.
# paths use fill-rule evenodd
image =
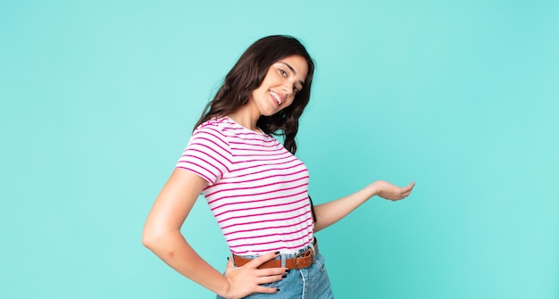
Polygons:
<instances>
[{"instance_id":1,"label":"woman's blue denim jeans below the brown belt","mask_svg":"<svg viewBox=\"0 0 559 299\"><path fill-rule=\"evenodd\" d=\"M302 252L305 252L303 250ZM282 254L278 259L292 258L296 254ZM285 261L285 260L284 260ZM284 262L285 264L285 262ZM324 257L321 253L316 254L315 261L310 267L289 270L287 278L280 281L264 284L264 287L280 288L280 292L274 294L254 293L245 299L332 299L330 278L324 266ZM217 296L217 299L223 299Z\"/></svg>"}]
</instances>

